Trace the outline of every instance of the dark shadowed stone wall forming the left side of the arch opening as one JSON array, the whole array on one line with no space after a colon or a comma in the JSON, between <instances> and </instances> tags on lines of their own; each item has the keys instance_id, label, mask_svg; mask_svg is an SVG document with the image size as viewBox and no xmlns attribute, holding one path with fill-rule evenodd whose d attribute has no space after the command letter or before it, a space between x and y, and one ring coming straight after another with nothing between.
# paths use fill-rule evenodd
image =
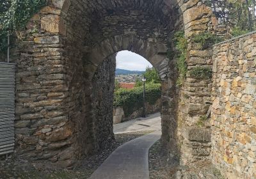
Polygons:
<instances>
[{"instance_id":1,"label":"dark shadowed stone wall forming the left side of the arch opening","mask_svg":"<svg viewBox=\"0 0 256 179\"><path fill-rule=\"evenodd\" d=\"M113 96L115 89L116 58L105 59L93 76L93 113L97 149L114 139Z\"/></svg>"}]
</instances>

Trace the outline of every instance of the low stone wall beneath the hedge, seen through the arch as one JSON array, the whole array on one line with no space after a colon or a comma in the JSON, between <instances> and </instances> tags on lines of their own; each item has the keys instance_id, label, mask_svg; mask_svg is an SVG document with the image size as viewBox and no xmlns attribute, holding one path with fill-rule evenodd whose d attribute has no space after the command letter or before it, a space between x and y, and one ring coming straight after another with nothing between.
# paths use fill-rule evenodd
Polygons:
<instances>
[{"instance_id":1,"label":"low stone wall beneath the hedge, seen through the arch","mask_svg":"<svg viewBox=\"0 0 256 179\"><path fill-rule=\"evenodd\" d=\"M154 114L161 111L161 99L157 100L155 104L145 104L145 113ZM143 108L134 111L130 116L125 117L124 109L122 107L116 107L113 110L113 123L121 123L123 121L129 121L136 118L140 118L143 114Z\"/></svg>"}]
</instances>

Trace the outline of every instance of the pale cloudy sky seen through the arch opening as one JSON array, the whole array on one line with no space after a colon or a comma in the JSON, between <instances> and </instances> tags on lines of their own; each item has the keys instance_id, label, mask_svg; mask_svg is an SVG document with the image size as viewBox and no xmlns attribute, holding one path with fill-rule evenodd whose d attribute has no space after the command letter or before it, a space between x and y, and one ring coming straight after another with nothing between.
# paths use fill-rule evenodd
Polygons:
<instances>
[{"instance_id":1,"label":"pale cloudy sky seen through the arch opening","mask_svg":"<svg viewBox=\"0 0 256 179\"><path fill-rule=\"evenodd\" d=\"M147 66L152 67L147 59L134 52L120 51L116 55L116 68L124 70L145 71Z\"/></svg>"}]
</instances>

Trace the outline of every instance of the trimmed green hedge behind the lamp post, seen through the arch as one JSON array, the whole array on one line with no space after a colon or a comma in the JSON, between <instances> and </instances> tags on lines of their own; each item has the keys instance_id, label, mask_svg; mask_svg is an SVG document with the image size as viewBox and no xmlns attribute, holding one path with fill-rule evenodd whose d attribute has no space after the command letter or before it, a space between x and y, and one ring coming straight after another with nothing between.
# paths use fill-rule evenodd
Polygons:
<instances>
[{"instance_id":1,"label":"trimmed green hedge behind the lamp post, seen through the arch","mask_svg":"<svg viewBox=\"0 0 256 179\"><path fill-rule=\"evenodd\" d=\"M161 98L161 84L145 85L145 101L153 105ZM133 89L120 88L115 91L114 107L123 107L125 117L143 107L143 86Z\"/></svg>"}]
</instances>

